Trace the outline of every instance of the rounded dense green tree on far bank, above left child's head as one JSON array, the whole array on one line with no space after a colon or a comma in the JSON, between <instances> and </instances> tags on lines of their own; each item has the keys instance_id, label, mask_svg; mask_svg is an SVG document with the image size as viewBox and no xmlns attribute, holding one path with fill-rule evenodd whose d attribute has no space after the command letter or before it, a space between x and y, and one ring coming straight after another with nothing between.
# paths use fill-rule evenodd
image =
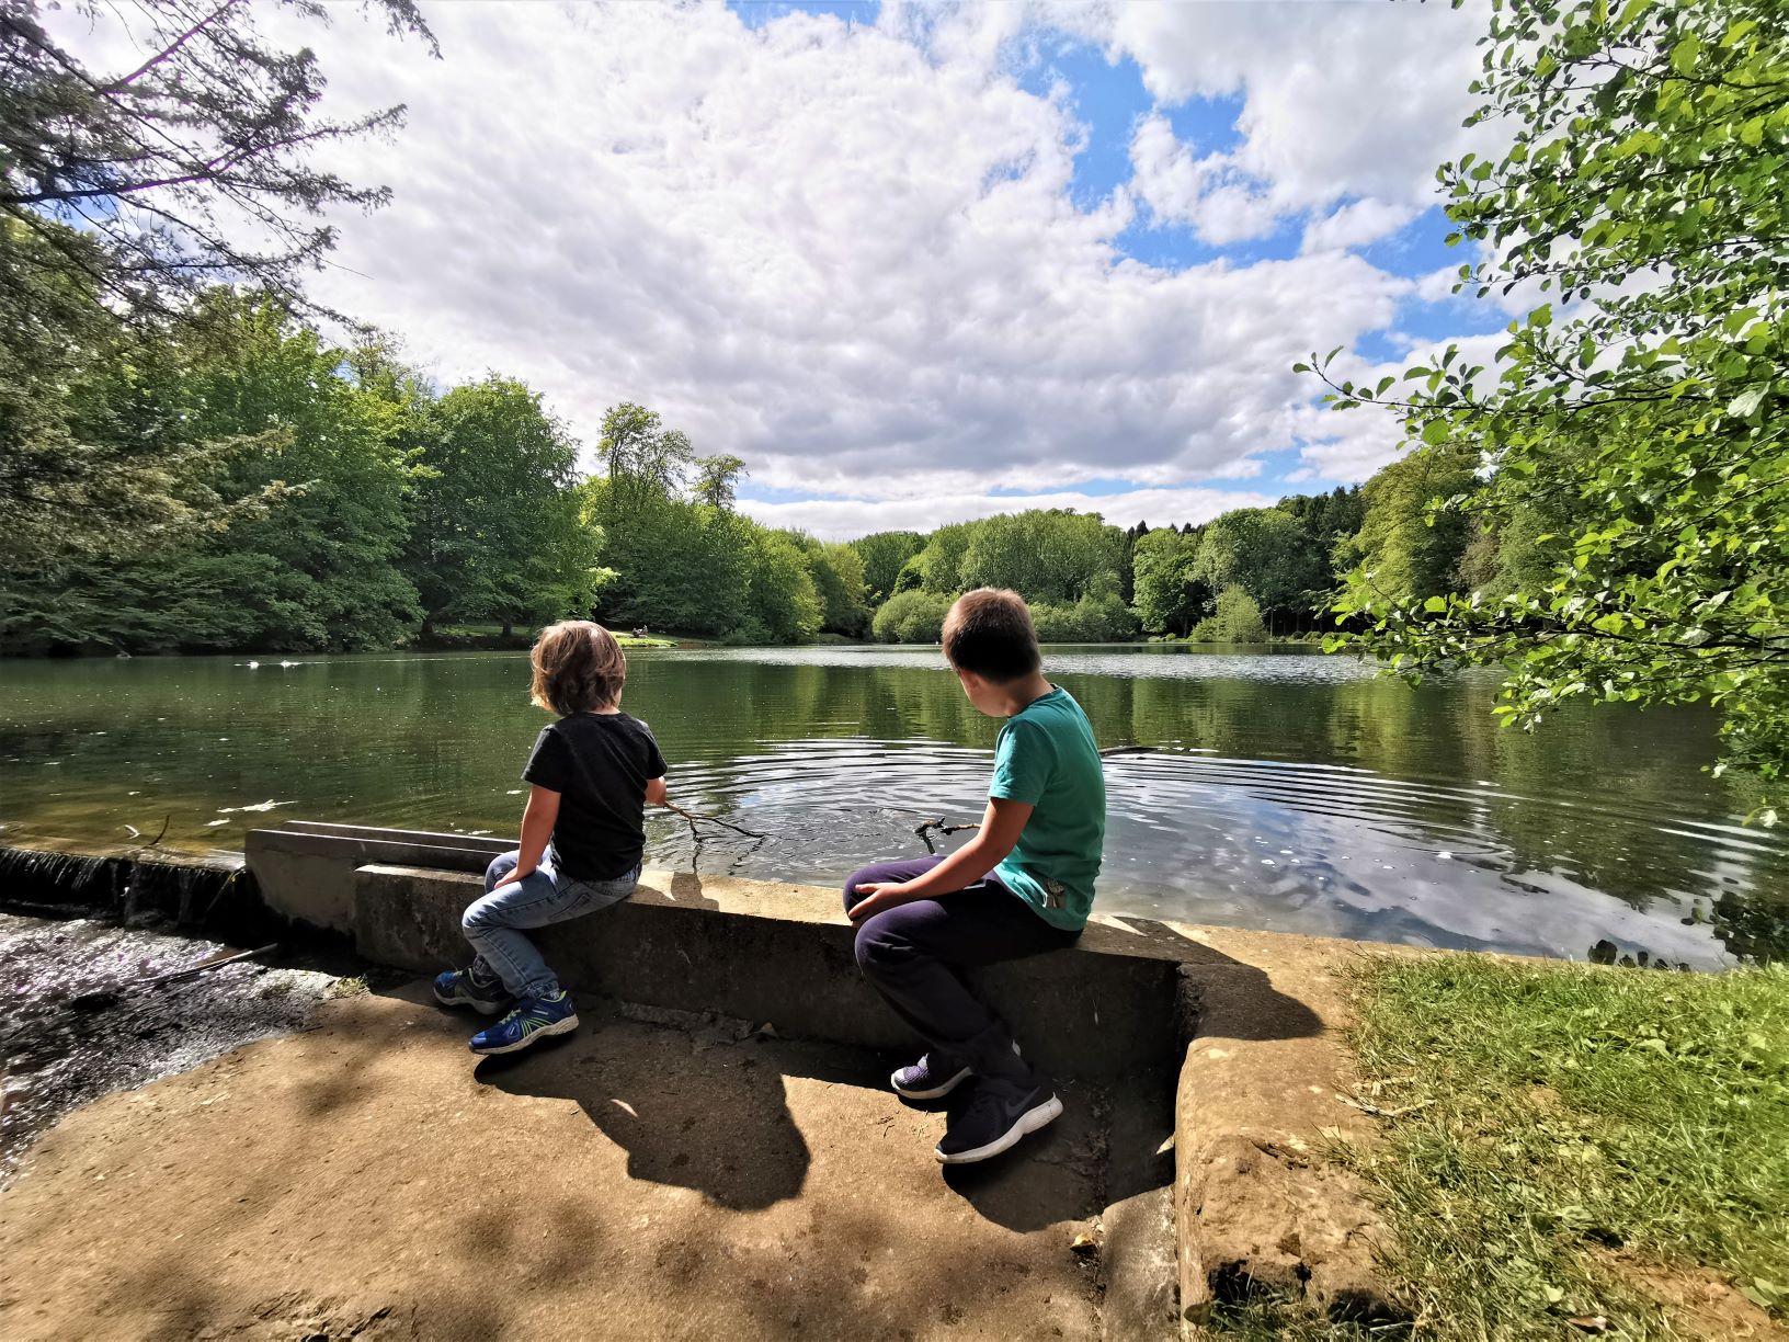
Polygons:
<instances>
[{"instance_id":1,"label":"rounded dense green tree on far bank, above left child's head","mask_svg":"<svg viewBox=\"0 0 1789 1342\"><path fill-rule=\"evenodd\" d=\"M404 571L438 619L544 621L589 608L594 537L578 515L578 444L540 397L488 376L411 412L422 467Z\"/></svg>"}]
</instances>

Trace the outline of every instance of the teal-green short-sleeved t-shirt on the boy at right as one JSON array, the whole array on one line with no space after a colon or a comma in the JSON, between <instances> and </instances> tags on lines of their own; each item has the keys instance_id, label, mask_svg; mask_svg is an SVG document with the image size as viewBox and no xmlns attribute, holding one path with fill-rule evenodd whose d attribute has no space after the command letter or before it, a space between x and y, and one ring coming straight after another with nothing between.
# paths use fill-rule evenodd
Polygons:
<instances>
[{"instance_id":1,"label":"teal-green short-sleeved t-shirt on the boy at right","mask_svg":"<svg viewBox=\"0 0 1789 1342\"><path fill-rule=\"evenodd\" d=\"M1106 771L1073 694L1056 687L1007 718L988 796L1032 805L995 875L1045 922L1086 927L1106 846Z\"/></svg>"}]
</instances>

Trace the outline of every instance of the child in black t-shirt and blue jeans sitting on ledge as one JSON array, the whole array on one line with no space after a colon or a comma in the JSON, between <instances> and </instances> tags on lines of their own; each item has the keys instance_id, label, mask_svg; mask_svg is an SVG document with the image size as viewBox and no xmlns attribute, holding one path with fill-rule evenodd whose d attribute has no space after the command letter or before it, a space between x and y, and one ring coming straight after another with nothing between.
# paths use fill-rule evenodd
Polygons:
<instances>
[{"instance_id":1,"label":"child in black t-shirt and blue jeans sitting on ledge","mask_svg":"<svg viewBox=\"0 0 1789 1342\"><path fill-rule=\"evenodd\" d=\"M578 1029L571 993L524 927L547 927L633 893L646 846L646 803L666 803L666 762L646 723L621 712L628 658L601 624L569 619L540 632L533 701L560 719L540 732L522 769L533 784L522 846L485 871L485 898L460 927L478 952L435 979L442 1006L496 1015L472 1036L476 1054L512 1054Z\"/></svg>"}]
</instances>

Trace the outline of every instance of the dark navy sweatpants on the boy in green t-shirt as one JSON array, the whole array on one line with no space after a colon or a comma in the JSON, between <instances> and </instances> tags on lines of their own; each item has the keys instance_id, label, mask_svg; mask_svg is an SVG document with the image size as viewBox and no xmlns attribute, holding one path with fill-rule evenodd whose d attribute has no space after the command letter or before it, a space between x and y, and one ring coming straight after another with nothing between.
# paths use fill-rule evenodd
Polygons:
<instances>
[{"instance_id":1,"label":"dark navy sweatpants on the boy in green t-shirt","mask_svg":"<svg viewBox=\"0 0 1789 1342\"><path fill-rule=\"evenodd\" d=\"M943 862L914 857L877 862L844 882L844 907L857 888L912 880ZM962 970L1075 945L1079 930L1052 927L993 877L968 889L902 904L857 927L857 966L891 1007L943 1054L977 1075L1027 1079L1013 1056L1013 1034L962 979Z\"/></svg>"}]
</instances>

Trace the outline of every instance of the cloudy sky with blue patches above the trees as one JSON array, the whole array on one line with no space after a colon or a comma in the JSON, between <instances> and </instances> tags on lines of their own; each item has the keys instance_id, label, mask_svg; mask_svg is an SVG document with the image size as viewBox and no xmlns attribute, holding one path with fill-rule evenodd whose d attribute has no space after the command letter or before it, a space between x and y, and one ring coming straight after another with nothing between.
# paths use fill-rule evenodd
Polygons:
<instances>
[{"instance_id":1,"label":"cloudy sky with blue patches above the trees","mask_svg":"<svg viewBox=\"0 0 1789 1342\"><path fill-rule=\"evenodd\" d=\"M394 200L313 293L442 383L521 378L587 463L606 406L658 410L767 524L1356 483L1395 422L1293 361L1483 354L1513 315L1449 293L1435 183L1496 149L1462 127L1483 4L456 0L438 61L356 13L302 29L326 109L408 123L329 149Z\"/></svg>"}]
</instances>

